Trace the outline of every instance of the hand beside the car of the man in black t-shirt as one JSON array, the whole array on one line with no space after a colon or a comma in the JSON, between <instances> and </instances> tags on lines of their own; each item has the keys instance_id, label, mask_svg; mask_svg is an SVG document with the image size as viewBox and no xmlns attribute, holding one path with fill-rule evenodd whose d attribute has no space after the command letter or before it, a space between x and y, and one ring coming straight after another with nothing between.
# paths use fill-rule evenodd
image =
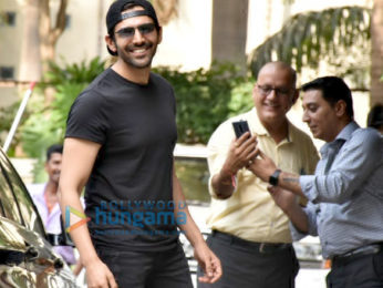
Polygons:
<instances>
[{"instance_id":1,"label":"hand beside the car of the man in black t-shirt","mask_svg":"<svg viewBox=\"0 0 383 288\"><path fill-rule=\"evenodd\" d=\"M113 274L100 258L85 265L89 288L117 288Z\"/></svg>"}]
</instances>

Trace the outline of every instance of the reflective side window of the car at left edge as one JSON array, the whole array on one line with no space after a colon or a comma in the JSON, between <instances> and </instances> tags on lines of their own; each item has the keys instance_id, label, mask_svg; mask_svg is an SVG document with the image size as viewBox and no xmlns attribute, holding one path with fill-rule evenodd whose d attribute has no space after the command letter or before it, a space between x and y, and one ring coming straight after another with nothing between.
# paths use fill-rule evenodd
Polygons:
<instances>
[{"instance_id":1,"label":"reflective side window of the car at left edge","mask_svg":"<svg viewBox=\"0 0 383 288\"><path fill-rule=\"evenodd\" d=\"M40 235L45 235L41 219L38 216L34 204L24 184L2 152L0 153L0 182L2 183L1 203L6 217L18 222L19 224L39 233Z\"/></svg>"}]
</instances>

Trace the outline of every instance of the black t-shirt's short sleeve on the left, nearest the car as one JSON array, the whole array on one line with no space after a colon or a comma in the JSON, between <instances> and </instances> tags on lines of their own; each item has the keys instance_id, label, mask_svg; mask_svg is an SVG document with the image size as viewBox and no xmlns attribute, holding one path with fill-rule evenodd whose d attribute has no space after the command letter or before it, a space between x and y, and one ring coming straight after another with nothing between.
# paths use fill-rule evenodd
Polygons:
<instances>
[{"instance_id":1,"label":"black t-shirt's short sleeve on the left, nearest the car","mask_svg":"<svg viewBox=\"0 0 383 288\"><path fill-rule=\"evenodd\" d=\"M85 91L74 101L66 121L65 137L104 144L107 132L107 107L103 96Z\"/></svg>"}]
</instances>

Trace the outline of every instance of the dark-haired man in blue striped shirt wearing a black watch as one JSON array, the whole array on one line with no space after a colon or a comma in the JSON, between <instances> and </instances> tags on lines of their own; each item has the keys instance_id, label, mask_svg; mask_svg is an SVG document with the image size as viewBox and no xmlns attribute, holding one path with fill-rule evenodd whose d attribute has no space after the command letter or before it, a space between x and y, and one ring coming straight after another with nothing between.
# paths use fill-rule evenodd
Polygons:
<instances>
[{"instance_id":1,"label":"dark-haired man in blue striped shirt wearing a black watch","mask_svg":"<svg viewBox=\"0 0 383 288\"><path fill-rule=\"evenodd\" d=\"M328 287L383 287L383 138L353 121L351 91L325 76L302 86L303 121L325 141L315 175L294 175L261 151L249 167L289 216L292 236L319 235L332 259ZM306 196L302 208L293 195Z\"/></svg>"}]
</instances>

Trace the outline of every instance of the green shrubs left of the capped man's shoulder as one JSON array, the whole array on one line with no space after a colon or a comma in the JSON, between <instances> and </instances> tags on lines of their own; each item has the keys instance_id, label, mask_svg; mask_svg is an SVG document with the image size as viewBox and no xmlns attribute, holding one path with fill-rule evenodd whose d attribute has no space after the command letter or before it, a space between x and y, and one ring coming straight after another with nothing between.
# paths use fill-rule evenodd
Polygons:
<instances>
[{"instance_id":1,"label":"green shrubs left of the capped man's shoulder","mask_svg":"<svg viewBox=\"0 0 383 288\"><path fill-rule=\"evenodd\" d=\"M38 85L37 94L46 88L53 88L53 100L44 103L41 95L37 95L29 105L30 116L21 127L23 151L31 157L44 157L46 148L54 143L62 143L69 110L81 93L105 66L105 61L95 58L90 62L80 64L64 64L50 62L50 71L44 75L43 82ZM40 169L35 171L35 175Z\"/></svg>"}]
</instances>

